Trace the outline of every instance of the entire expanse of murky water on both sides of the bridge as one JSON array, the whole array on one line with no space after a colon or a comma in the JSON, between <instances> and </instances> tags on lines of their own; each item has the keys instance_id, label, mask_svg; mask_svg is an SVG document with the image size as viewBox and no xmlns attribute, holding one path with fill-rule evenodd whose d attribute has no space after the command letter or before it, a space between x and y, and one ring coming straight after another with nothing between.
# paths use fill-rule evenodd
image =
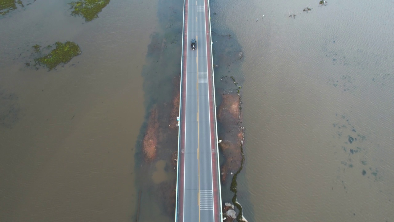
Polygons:
<instances>
[{"instance_id":1,"label":"entire expanse of murky water on both sides of the bridge","mask_svg":"<svg viewBox=\"0 0 394 222\"><path fill-rule=\"evenodd\" d=\"M211 1L217 105L220 76L242 86L238 200L249 221L390 221L390 2L317 3ZM152 106L171 124L181 4L112 0L85 23L43 0L0 19L1 221L130 221L139 190L139 221L173 221L172 132L149 163L141 141ZM67 40L82 55L64 68L24 68Z\"/></svg>"}]
</instances>

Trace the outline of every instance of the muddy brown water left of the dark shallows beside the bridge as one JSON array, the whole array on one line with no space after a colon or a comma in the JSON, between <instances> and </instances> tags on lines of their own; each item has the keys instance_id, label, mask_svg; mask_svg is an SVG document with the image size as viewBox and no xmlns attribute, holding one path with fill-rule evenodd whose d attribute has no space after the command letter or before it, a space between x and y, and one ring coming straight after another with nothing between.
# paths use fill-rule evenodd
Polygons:
<instances>
[{"instance_id":1,"label":"muddy brown water left of the dark shallows beside the bridge","mask_svg":"<svg viewBox=\"0 0 394 222\"><path fill-rule=\"evenodd\" d=\"M145 15L156 6L111 1L85 23L67 2L44 0L0 19L0 221L135 216L141 70L157 25ZM24 68L32 45L67 40L82 54L64 68Z\"/></svg>"}]
</instances>

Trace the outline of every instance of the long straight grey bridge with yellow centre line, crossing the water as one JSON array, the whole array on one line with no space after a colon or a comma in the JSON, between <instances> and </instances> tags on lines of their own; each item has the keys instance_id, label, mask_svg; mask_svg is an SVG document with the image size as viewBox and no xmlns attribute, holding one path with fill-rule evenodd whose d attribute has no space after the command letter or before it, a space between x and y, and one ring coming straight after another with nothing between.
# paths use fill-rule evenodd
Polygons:
<instances>
[{"instance_id":1,"label":"long straight grey bridge with yellow centre line, crossing the water","mask_svg":"<svg viewBox=\"0 0 394 222\"><path fill-rule=\"evenodd\" d=\"M184 0L183 16L175 222L220 222L209 0Z\"/></svg>"}]
</instances>

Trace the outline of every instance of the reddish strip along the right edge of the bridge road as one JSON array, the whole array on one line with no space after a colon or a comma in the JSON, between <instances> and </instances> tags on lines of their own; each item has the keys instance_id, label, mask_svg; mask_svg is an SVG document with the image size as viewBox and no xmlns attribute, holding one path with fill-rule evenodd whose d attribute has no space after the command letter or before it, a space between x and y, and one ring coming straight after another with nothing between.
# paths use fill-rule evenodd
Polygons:
<instances>
[{"instance_id":1,"label":"reddish strip along the right edge of the bridge road","mask_svg":"<svg viewBox=\"0 0 394 222\"><path fill-rule=\"evenodd\" d=\"M215 123L215 112L216 112L216 107L214 104L214 96L213 96L213 90L214 86L213 86L213 75L212 75L212 51L211 51L211 32L210 32L210 23L209 23L209 19L210 19L210 15L209 15L209 11L208 11L208 4L209 1L208 0L204 0L205 1L205 32L206 32L206 51L207 51L207 63L208 65L208 94L209 94L209 109L210 109L210 132L211 132L211 147L213 147L215 149L214 152L211 151L211 155L212 155L212 182L213 182L213 194L214 194L214 221L221 221L221 203L219 203L219 192L221 192L220 190L218 190L219 188L219 180L218 180L218 175L217 175L217 154L218 154L218 149L217 149L217 141L216 141L216 136L215 136L215 132L216 132L216 123Z\"/></svg>"}]
</instances>

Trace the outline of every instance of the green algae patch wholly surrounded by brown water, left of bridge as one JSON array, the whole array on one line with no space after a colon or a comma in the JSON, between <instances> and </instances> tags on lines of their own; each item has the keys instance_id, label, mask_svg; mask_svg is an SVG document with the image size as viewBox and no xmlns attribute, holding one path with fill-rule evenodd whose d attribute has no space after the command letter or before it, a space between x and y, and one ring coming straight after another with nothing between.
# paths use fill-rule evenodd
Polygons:
<instances>
[{"instance_id":1,"label":"green algae patch wholly surrounded by brown water, left of bridge","mask_svg":"<svg viewBox=\"0 0 394 222\"><path fill-rule=\"evenodd\" d=\"M35 48L37 46L39 45L33 46L35 51L37 50ZM56 48L52 49L52 51L50 51L47 55L35 58L35 64L44 65L50 71L56 68L56 66L59 64L66 64L67 62L70 62L72 58L81 54L80 47L72 41L66 41L65 43L58 41L55 43L55 46ZM40 51L40 47L41 46L38 47L38 51Z\"/></svg>"}]
</instances>

